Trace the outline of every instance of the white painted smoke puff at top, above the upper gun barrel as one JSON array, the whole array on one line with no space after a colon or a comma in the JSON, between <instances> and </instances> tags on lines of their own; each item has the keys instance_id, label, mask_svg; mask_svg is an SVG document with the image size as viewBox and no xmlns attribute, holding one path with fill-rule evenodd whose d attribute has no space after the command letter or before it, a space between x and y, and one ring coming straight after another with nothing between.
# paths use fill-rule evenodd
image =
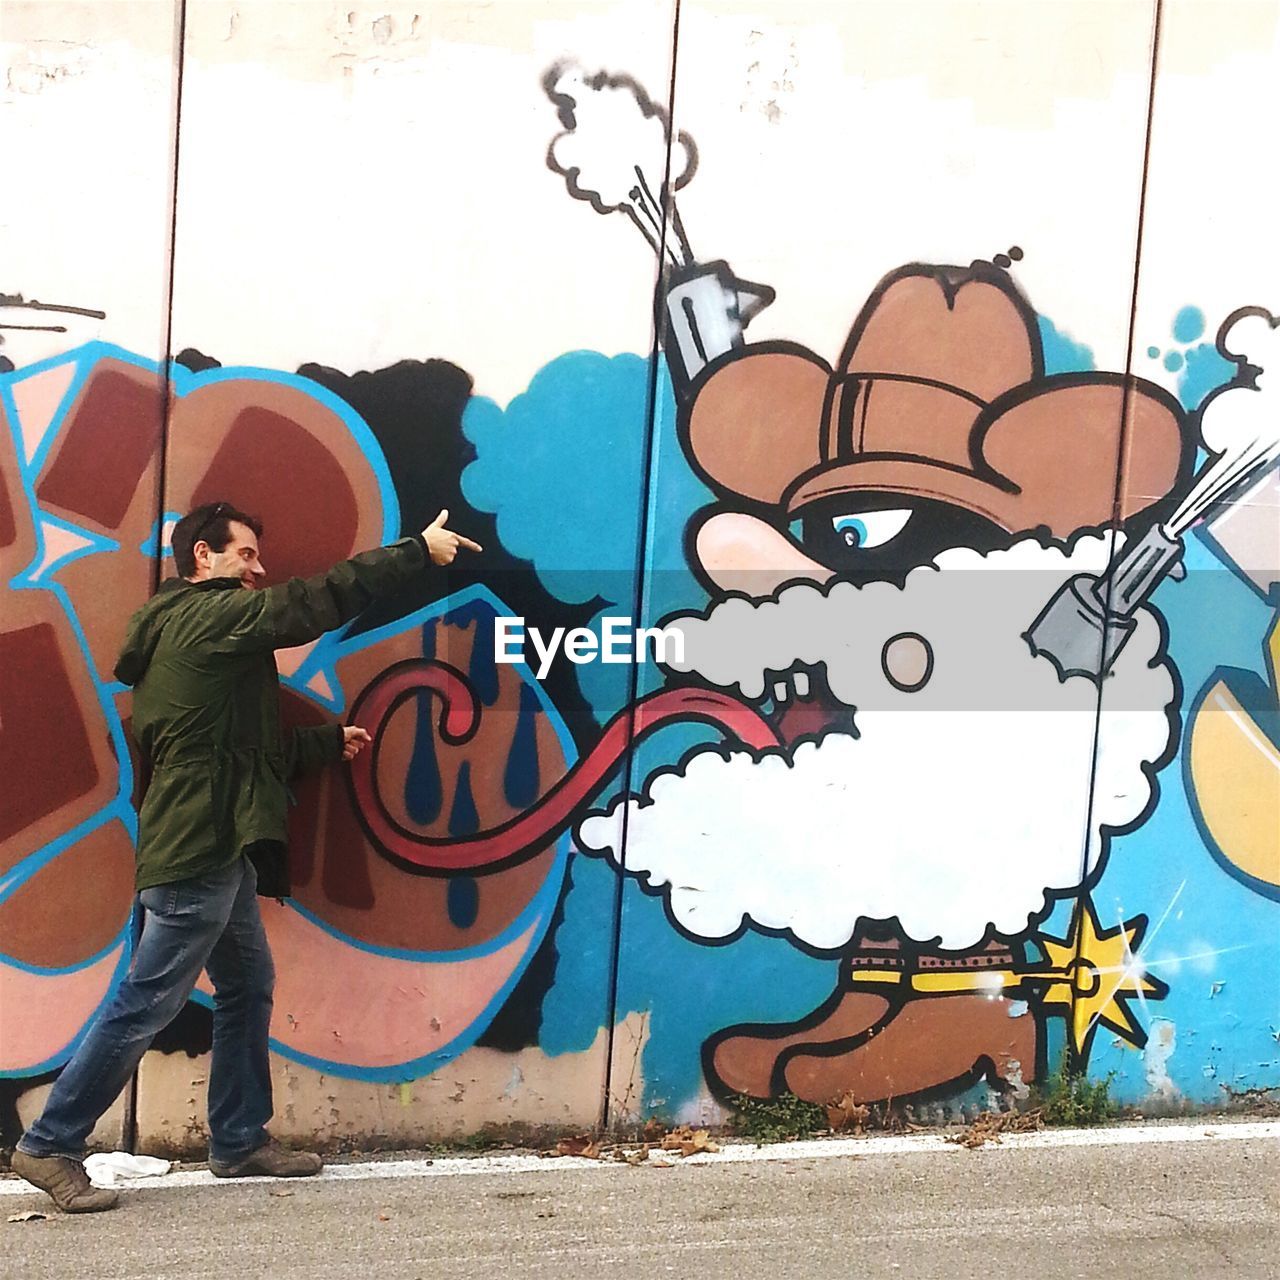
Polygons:
<instances>
[{"instance_id":1,"label":"white painted smoke puff at top, above the upper gun barrel","mask_svg":"<svg viewBox=\"0 0 1280 1280\"><path fill-rule=\"evenodd\" d=\"M646 236L660 223L667 166L667 114L630 76L588 76L576 63L561 63L544 79L564 132L553 138L548 164L563 174L570 195L589 200L600 214L628 214ZM695 166L692 140L671 143L671 189Z\"/></svg>"}]
</instances>

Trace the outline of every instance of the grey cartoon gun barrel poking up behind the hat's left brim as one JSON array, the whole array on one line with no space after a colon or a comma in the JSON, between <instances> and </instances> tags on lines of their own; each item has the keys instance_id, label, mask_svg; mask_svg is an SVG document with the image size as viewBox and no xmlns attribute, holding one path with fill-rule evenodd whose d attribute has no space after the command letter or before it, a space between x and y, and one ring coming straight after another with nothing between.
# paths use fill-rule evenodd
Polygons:
<instances>
[{"instance_id":1,"label":"grey cartoon gun barrel poking up behind the hat's left brim","mask_svg":"<svg viewBox=\"0 0 1280 1280\"><path fill-rule=\"evenodd\" d=\"M741 347L742 330L774 298L767 284L740 280L728 262L695 262L667 276L667 364L676 389L689 384L713 360Z\"/></svg>"}]
</instances>

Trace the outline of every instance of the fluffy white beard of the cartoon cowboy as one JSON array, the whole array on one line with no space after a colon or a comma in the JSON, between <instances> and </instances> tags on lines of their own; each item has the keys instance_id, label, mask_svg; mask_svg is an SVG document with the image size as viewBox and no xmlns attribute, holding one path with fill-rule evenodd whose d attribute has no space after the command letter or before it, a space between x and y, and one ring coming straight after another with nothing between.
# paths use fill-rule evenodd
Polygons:
<instances>
[{"instance_id":1,"label":"fluffy white beard of the cartoon cowboy","mask_svg":"<svg viewBox=\"0 0 1280 1280\"><path fill-rule=\"evenodd\" d=\"M660 890L699 938L754 924L836 950L860 920L896 920L918 943L966 950L1025 933L1051 893L1088 879L1103 828L1142 817L1172 733L1176 685L1151 611L1105 682L1101 717L1097 686L1061 681L1021 637L1105 552L1100 538L1070 557L1032 539L959 549L904 588L799 585L677 620L681 669L746 698L796 660L822 664L856 707L858 736L829 732L758 760L699 750L627 801L625 859L621 800L580 824L580 847ZM933 652L916 692L895 689L882 666L904 634Z\"/></svg>"}]
</instances>

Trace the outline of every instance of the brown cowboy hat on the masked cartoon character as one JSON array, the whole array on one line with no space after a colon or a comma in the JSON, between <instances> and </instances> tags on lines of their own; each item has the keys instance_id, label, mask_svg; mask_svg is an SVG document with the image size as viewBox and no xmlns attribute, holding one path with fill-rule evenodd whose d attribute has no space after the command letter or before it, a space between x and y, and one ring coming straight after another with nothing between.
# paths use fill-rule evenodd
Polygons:
<instances>
[{"instance_id":1,"label":"brown cowboy hat on the masked cartoon character","mask_svg":"<svg viewBox=\"0 0 1280 1280\"><path fill-rule=\"evenodd\" d=\"M1055 538L1121 520L1189 474L1178 401L1124 374L1044 376L1039 326L989 262L904 266L863 307L840 362L763 343L694 387L689 456L722 494L788 515L841 494L951 503ZM1116 468L1123 484L1116 493Z\"/></svg>"}]
</instances>

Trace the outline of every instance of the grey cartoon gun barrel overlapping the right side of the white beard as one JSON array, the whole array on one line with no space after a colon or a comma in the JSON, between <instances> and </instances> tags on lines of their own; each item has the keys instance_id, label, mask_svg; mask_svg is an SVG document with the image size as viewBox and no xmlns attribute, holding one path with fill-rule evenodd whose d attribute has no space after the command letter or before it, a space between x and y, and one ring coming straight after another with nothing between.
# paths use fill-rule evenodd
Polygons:
<instances>
[{"instance_id":1,"label":"grey cartoon gun barrel overlapping the right side of the white beard","mask_svg":"<svg viewBox=\"0 0 1280 1280\"><path fill-rule=\"evenodd\" d=\"M1130 543L1102 577L1078 573L1044 605L1024 634L1059 676L1101 682L1137 627L1133 614L1166 576L1180 579L1183 544L1161 525Z\"/></svg>"}]
</instances>

